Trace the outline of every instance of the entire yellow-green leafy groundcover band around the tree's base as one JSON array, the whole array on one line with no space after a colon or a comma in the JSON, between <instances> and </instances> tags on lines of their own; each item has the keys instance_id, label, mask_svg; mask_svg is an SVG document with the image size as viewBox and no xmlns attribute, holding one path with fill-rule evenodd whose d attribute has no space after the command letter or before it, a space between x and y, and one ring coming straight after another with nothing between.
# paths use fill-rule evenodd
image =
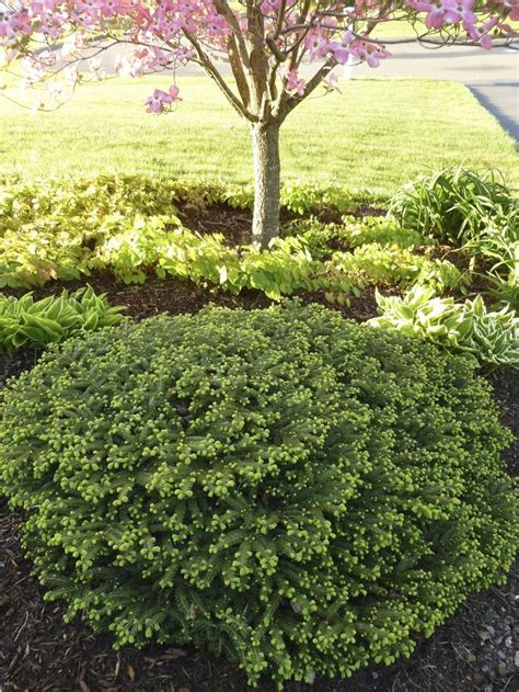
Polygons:
<instances>
[{"instance_id":1,"label":"entire yellow-green leafy groundcover band around the tree's base","mask_svg":"<svg viewBox=\"0 0 519 692\"><path fill-rule=\"evenodd\" d=\"M183 226L181 207L184 213L218 204L247 208L252 202L250 188L210 181L0 179L0 287L31 288L106 270L125 283L143 283L155 273L233 294L255 288L275 300L321 290L330 300L347 302L366 282L406 286L419 281L441 293L462 281L451 262L428 256L431 248L404 250L429 241L387 218L344 216L333 228L301 223L288 230L295 237L274 240L268 252L251 243L229 247L221 234L200 235ZM342 188L312 185L285 185L281 202L295 215L343 214L359 204ZM331 252L330 242L337 240L357 247L356 254Z\"/></svg>"}]
</instances>

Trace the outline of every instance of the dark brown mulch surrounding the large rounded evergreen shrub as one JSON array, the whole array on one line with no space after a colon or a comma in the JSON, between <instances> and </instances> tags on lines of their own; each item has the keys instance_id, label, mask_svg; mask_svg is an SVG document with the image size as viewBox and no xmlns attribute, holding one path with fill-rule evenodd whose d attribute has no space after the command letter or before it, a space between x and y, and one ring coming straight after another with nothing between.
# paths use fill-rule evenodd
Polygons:
<instances>
[{"instance_id":1,"label":"dark brown mulch surrounding the large rounded evergreen shrub","mask_svg":"<svg viewBox=\"0 0 519 692\"><path fill-rule=\"evenodd\" d=\"M143 318L163 310L196 311L208 302L231 307L264 307L256 292L240 297L185 282L150 279L145 286L124 286L106 274L91 280L112 303L128 306L127 314ZM78 284L79 285L79 284ZM68 287L70 286L68 284ZM60 290L37 292L48 295ZM305 294L305 302L324 302ZM338 307L338 306L337 306ZM347 317L367 319L374 313L372 292L341 307ZM36 362L34 352L12 359L0 356L0 389L5 379ZM505 422L517 430L519 378L510 373L494 377L496 398ZM508 451L510 473L517 473L519 451ZM62 621L64 608L43 600L43 589L30 574L20 548L23 518L0 506L0 690L2 692L244 692L244 676L233 665L200 651L150 646L137 651L112 648L106 635L95 635L80 620ZM413 656L391 667L370 667L347 681L319 678L313 687L289 684L288 692L515 692L519 689L518 574L505 587L474 595L432 637L418 643ZM274 692L264 681L260 692Z\"/></svg>"}]
</instances>

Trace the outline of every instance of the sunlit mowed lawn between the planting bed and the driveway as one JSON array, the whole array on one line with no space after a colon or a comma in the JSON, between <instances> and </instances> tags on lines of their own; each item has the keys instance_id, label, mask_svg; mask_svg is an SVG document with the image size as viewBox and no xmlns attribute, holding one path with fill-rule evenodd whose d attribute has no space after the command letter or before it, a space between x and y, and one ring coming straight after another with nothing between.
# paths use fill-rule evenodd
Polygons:
<instances>
[{"instance_id":1,"label":"sunlit mowed lawn between the planting bed and the driveway","mask_svg":"<svg viewBox=\"0 0 519 692\"><path fill-rule=\"evenodd\" d=\"M57 112L0 99L0 174L142 172L250 181L246 125L206 78L178 80L175 113L152 116L143 101L170 79L113 79L83 86ZM391 194L429 169L497 168L516 185L515 143L463 86L429 80L351 80L315 97L282 126L285 181L337 183Z\"/></svg>"}]
</instances>

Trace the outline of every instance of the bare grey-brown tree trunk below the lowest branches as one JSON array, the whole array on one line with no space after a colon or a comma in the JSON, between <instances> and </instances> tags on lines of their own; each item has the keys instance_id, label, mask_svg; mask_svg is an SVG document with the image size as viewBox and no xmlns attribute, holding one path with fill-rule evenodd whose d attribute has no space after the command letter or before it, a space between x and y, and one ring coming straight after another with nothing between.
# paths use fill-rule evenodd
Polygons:
<instances>
[{"instance_id":1,"label":"bare grey-brown tree trunk below the lowest branches","mask_svg":"<svg viewBox=\"0 0 519 692\"><path fill-rule=\"evenodd\" d=\"M279 125L252 125L254 158L253 240L267 248L279 236Z\"/></svg>"}]
</instances>

